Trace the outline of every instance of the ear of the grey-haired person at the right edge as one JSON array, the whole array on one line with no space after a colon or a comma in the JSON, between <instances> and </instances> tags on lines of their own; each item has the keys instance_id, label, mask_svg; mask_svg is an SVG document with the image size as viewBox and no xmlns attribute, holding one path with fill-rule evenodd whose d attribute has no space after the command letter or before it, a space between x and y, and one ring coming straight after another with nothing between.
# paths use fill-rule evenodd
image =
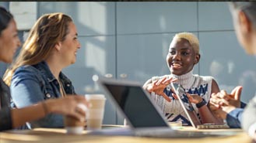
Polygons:
<instances>
[{"instance_id":1,"label":"ear of the grey-haired person at the right edge","mask_svg":"<svg viewBox=\"0 0 256 143\"><path fill-rule=\"evenodd\" d=\"M252 30L252 23L251 20L248 19L247 15L243 11L238 12L238 22L240 25L240 30L244 34L247 32L251 32Z\"/></svg>"}]
</instances>

